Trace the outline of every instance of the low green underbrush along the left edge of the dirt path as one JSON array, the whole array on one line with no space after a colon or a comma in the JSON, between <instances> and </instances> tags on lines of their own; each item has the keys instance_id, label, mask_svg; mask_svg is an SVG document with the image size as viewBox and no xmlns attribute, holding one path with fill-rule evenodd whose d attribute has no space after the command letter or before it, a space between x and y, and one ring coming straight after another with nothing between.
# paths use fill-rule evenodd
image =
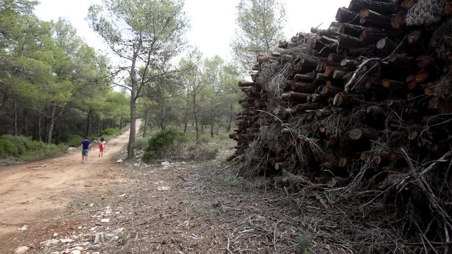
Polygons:
<instances>
[{"instance_id":1,"label":"low green underbrush along the left edge of the dirt path","mask_svg":"<svg viewBox=\"0 0 452 254\"><path fill-rule=\"evenodd\" d=\"M37 161L60 155L67 145L48 145L25 136L0 136L0 158L17 158L22 161Z\"/></svg>"}]
</instances>

